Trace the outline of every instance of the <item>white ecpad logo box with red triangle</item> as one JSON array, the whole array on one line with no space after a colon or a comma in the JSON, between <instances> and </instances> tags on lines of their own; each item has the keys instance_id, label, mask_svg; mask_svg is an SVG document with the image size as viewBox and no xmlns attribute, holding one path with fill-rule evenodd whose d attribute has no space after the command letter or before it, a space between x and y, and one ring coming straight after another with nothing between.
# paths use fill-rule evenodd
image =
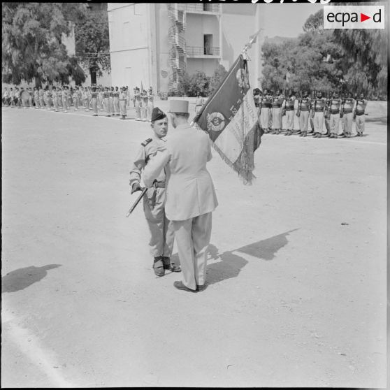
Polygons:
<instances>
[{"instance_id":1,"label":"white ecpad logo box with red triangle","mask_svg":"<svg viewBox=\"0 0 390 390\"><path fill-rule=\"evenodd\" d=\"M384 29L384 6L324 6L324 29Z\"/></svg>"}]
</instances>

